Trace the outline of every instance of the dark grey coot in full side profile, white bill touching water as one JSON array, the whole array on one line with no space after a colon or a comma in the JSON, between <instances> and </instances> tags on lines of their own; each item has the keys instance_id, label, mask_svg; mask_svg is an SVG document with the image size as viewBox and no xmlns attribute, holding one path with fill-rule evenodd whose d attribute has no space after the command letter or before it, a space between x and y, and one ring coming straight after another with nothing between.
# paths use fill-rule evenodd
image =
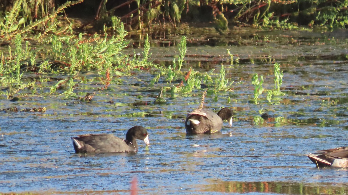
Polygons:
<instances>
[{"instance_id":1,"label":"dark grey coot in full side profile, white bill touching water","mask_svg":"<svg viewBox=\"0 0 348 195\"><path fill-rule=\"evenodd\" d=\"M148 132L143 126L128 129L125 140L111 134L86 134L71 138L76 153L137 152L136 139L149 145Z\"/></svg>"}]
</instances>

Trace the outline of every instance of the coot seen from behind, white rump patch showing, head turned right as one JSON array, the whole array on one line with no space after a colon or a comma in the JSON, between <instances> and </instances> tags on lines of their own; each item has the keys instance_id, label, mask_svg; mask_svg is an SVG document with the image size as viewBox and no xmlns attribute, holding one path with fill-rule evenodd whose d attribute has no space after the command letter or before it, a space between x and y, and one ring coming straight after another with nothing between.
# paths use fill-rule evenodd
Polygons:
<instances>
[{"instance_id":1,"label":"coot seen from behind, white rump patch showing, head turned right","mask_svg":"<svg viewBox=\"0 0 348 195\"><path fill-rule=\"evenodd\" d=\"M232 116L233 112L229 108L223 108L217 114L206 109L193 110L186 116L186 134L212 134L219 132L222 128L223 120L228 120L230 127L232 126Z\"/></svg>"}]
</instances>

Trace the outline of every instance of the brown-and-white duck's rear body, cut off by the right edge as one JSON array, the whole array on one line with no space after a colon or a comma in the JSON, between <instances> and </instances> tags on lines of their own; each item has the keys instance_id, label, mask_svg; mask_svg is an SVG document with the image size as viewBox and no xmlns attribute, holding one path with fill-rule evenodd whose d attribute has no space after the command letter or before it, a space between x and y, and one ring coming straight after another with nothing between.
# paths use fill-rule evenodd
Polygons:
<instances>
[{"instance_id":1,"label":"brown-and-white duck's rear body, cut off by the right edge","mask_svg":"<svg viewBox=\"0 0 348 195\"><path fill-rule=\"evenodd\" d=\"M348 167L348 147L319 150L306 154L319 167Z\"/></svg>"}]
</instances>

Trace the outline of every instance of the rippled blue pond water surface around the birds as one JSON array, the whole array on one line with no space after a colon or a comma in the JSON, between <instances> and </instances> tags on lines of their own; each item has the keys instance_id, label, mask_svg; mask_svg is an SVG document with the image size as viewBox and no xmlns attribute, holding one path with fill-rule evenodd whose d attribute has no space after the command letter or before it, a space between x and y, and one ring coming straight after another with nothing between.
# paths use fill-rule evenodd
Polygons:
<instances>
[{"instance_id":1,"label":"rippled blue pond water surface around the birds","mask_svg":"<svg viewBox=\"0 0 348 195\"><path fill-rule=\"evenodd\" d=\"M193 96L154 104L161 86L150 87L153 75L135 71L119 77L90 102L61 96L28 96L0 100L0 194L130 194L138 180L139 194L347 194L348 169L318 170L307 152L347 145L348 45L303 32L258 32L240 44L204 45L188 41L183 71L221 64L233 91L208 94L205 107L234 109L232 127L221 134L186 136L184 119L199 106L202 90ZM242 37L243 39L243 37ZM220 43L219 41L212 41ZM239 57L230 65L226 49ZM153 47L152 60L169 63L173 47ZM253 99L252 74L274 87L274 65L284 71L277 104ZM81 74L79 93L102 86L97 73ZM42 83L52 85L54 82ZM230 99L230 101L229 101ZM45 107L45 112L23 109ZM271 118L252 120L266 111ZM125 138L128 128L148 129L151 146L139 141L137 154L75 154L70 137L110 133Z\"/></svg>"}]
</instances>

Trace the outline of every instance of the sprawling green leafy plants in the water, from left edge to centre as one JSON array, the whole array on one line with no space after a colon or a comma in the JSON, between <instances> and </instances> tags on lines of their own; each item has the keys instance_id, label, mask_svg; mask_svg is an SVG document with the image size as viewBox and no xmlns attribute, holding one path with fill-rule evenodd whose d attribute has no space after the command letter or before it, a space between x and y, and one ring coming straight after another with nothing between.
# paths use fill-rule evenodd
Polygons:
<instances>
[{"instance_id":1,"label":"sprawling green leafy plants in the water, from left edge to centre","mask_svg":"<svg viewBox=\"0 0 348 195\"><path fill-rule=\"evenodd\" d=\"M100 74L103 77L101 84L104 87L95 89L99 91L106 90L115 76L129 75L132 71L149 68L155 73L150 85L154 86L163 77L168 82L164 86L164 91L169 90L172 97L192 95L193 90L201 90L201 84L214 89L214 93L227 91L233 83L229 83L225 78L223 66L220 73L214 73L213 70L200 73L193 68L189 68L186 72L182 71L187 51L185 36L182 36L178 44L179 56L176 56L173 64L167 67L148 61L151 56L148 36L144 40L142 55L139 56L134 52L134 56L129 56L123 51L129 45L125 39L128 33L124 24L117 17L112 17L111 20L111 26L104 26L103 32L112 32L112 35L106 33L92 36L86 36L83 33L68 33L64 36L54 33L40 35L39 39L35 40L40 43L35 45L35 50L31 48L29 41L25 41L22 33L14 33L14 39L10 39L10 45L14 47L8 46L7 51L2 50L0 53L1 86L6 89L0 93L6 94L7 98L21 97L30 93L32 95L63 95L66 98L89 100L93 96L79 97L80 94L76 92L80 72L96 71ZM5 37L10 38L10 35L12 33L7 33ZM62 76L50 86L49 91L44 89L37 91L37 82L25 76L31 72L41 76L46 75L48 79L52 75ZM179 84L173 84L173 81ZM58 88L60 90L57 90ZM46 93L42 94L43 91Z\"/></svg>"}]
</instances>

